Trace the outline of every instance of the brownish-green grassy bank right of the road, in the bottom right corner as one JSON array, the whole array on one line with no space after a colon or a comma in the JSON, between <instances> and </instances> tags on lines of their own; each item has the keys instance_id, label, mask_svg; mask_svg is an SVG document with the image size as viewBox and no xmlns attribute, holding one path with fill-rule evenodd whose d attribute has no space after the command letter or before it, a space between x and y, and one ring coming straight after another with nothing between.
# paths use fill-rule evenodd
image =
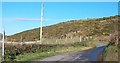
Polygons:
<instances>
[{"instance_id":1,"label":"brownish-green grassy bank right of the road, in the bottom right corner","mask_svg":"<svg viewBox=\"0 0 120 63\"><path fill-rule=\"evenodd\" d=\"M103 61L118 61L119 48L109 45L103 52Z\"/></svg>"}]
</instances>

